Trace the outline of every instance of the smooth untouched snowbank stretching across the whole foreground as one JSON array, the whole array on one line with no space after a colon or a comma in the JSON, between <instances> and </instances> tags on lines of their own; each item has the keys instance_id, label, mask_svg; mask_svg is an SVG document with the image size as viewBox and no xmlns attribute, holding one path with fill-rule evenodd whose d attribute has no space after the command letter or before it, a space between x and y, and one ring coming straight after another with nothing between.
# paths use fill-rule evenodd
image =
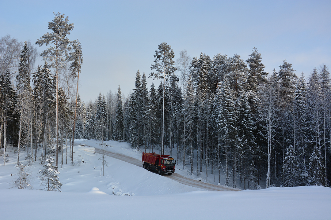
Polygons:
<instances>
[{"instance_id":1,"label":"smooth untouched snowbank stretching across the whole foreground","mask_svg":"<svg viewBox=\"0 0 331 220\"><path fill-rule=\"evenodd\" d=\"M331 189L272 187L240 192L111 196L0 190L2 219L330 219ZM18 211L20 210L20 211Z\"/></svg>"}]
</instances>

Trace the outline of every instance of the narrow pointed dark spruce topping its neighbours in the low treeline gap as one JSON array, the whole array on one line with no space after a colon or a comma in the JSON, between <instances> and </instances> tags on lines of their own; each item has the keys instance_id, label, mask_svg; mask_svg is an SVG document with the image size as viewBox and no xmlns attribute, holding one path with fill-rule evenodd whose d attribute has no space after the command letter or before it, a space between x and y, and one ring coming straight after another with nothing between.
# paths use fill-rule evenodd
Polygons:
<instances>
[{"instance_id":1,"label":"narrow pointed dark spruce topping its neighbours in the low treeline gap","mask_svg":"<svg viewBox=\"0 0 331 220\"><path fill-rule=\"evenodd\" d=\"M124 140L124 117L123 117L123 101L122 101L122 91L118 85L117 90L117 104L115 113L115 141Z\"/></svg>"}]
</instances>

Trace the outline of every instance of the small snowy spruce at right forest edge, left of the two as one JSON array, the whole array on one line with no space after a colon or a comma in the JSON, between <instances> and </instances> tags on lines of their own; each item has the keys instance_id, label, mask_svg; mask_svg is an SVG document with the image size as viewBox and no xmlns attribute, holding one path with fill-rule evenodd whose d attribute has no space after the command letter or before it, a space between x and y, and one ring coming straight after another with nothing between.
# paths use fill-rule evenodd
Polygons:
<instances>
[{"instance_id":1,"label":"small snowy spruce at right forest edge, left of the two","mask_svg":"<svg viewBox=\"0 0 331 220\"><path fill-rule=\"evenodd\" d=\"M294 146L292 145L288 146L286 149L286 156L283 163L283 175L283 186L299 186L299 161L295 154Z\"/></svg>"}]
</instances>

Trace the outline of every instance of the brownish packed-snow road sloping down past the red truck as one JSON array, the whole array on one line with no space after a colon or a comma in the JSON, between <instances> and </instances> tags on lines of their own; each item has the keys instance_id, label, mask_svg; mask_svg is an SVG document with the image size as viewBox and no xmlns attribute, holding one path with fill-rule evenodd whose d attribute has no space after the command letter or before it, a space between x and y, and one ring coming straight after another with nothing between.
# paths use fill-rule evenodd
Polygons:
<instances>
[{"instance_id":1,"label":"brownish packed-snow road sloping down past the red truck","mask_svg":"<svg viewBox=\"0 0 331 220\"><path fill-rule=\"evenodd\" d=\"M101 150L96 148L95 152L100 153ZM138 159L133 158L133 157L129 157L129 156L124 155L124 154L114 153L114 152L111 152L111 151L105 151L105 154L107 156L116 158L118 160L122 160L122 161L125 161L127 163L136 165L138 167L143 166L143 162L141 160L138 160ZM166 177L166 178L173 179L173 180L175 180L179 183L182 183L182 184L185 184L185 185L188 185L188 186L193 186L193 187L205 189L205 190L208 190L208 191L240 191L240 189L236 189L236 188L226 187L226 186L222 186L222 185L214 185L214 184L209 184L209 183L201 182L201 181L198 181L198 180L190 179L190 178L182 176L178 173L173 173L171 176L169 176L169 175L163 175L163 176Z\"/></svg>"}]
</instances>

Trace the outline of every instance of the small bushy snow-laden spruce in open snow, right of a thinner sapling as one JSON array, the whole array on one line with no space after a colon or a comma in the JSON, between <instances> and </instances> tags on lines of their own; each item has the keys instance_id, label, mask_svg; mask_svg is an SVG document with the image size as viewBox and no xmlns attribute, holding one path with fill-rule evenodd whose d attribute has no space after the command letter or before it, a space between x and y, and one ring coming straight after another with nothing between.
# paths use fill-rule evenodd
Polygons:
<instances>
[{"instance_id":1,"label":"small bushy snow-laden spruce in open snow, right of a thinner sapling","mask_svg":"<svg viewBox=\"0 0 331 220\"><path fill-rule=\"evenodd\" d=\"M41 185L46 186L44 190L61 192L62 183L59 181L58 177L60 172L58 172L54 166L54 158L49 157L45 162L44 169L39 171L39 173L41 173L39 176Z\"/></svg>"}]
</instances>

